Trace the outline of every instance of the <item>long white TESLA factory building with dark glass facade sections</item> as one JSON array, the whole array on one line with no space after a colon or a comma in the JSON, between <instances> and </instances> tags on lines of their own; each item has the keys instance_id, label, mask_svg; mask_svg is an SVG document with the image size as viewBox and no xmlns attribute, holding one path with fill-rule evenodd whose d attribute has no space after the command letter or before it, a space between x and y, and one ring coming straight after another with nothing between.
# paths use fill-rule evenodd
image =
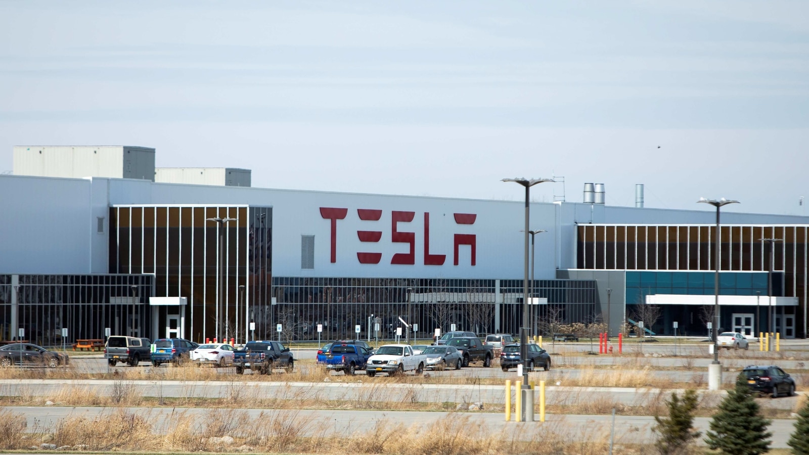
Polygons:
<instances>
[{"instance_id":1,"label":"long white TESLA factory building with dark glass facade sections","mask_svg":"<svg viewBox=\"0 0 809 455\"><path fill-rule=\"evenodd\" d=\"M399 317L422 333L519 327L524 202L252 188L246 169L155 168L146 147L23 146L14 163L0 176L2 339L23 328L48 344L69 326L73 339L244 340L278 324L316 338L318 325L347 336ZM705 334L714 211L605 206L603 185L589 188L582 202L531 204L531 229L546 231L534 329L553 310L614 332L628 308L658 304L650 330ZM722 211L722 328L806 336L807 228ZM762 238L782 241L771 251Z\"/></svg>"}]
</instances>

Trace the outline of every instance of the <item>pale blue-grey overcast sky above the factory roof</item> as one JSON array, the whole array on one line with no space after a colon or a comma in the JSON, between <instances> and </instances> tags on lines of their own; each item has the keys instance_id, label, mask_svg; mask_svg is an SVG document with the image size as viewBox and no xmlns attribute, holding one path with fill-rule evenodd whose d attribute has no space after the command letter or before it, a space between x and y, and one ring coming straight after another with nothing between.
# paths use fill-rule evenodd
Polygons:
<instances>
[{"instance_id":1,"label":"pale blue-grey overcast sky above the factory roof","mask_svg":"<svg viewBox=\"0 0 809 455\"><path fill-rule=\"evenodd\" d=\"M533 199L809 215L807 101L803 0L0 1L0 172L14 145L133 145L259 187L561 176Z\"/></svg>"}]
</instances>

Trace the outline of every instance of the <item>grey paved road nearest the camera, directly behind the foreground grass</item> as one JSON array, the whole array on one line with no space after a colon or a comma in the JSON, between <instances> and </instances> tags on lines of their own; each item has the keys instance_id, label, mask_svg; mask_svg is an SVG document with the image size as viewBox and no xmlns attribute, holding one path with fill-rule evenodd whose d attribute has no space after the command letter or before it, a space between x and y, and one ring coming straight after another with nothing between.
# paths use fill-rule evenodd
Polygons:
<instances>
[{"instance_id":1,"label":"grey paved road nearest the camera, directly behind the foreground grass","mask_svg":"<svg viewBox=\"0 0 809 455\"><path fill-rule=\"evenodd\" d=\"M73 406L49 406L47 414L44 414L41 407L5 406L2 409L10 410L19 415L24 415L28 419L29 427L32 427L38 420L40 427L55 427L61 419L70 416L84 416L94 418L100 415L109 415L114 412L109 408L100 407L73 407ZM176 416L178 412L186 412L187 415L194 416L198 421L210 419L211 415L221 412L221 409L205 408L125 408L125 410L138 415L147 416L155 424L155 432L162 432L166 420L170 415ZM247 409L245 413L256 419L258 415L268 414L267 410ZM487 429L490 435L502 435L504 432L514 429L514 437L517 440L530 440L541 432L543 437L548 437L549 433L556 433L567 441L580 441L608 438L610 431L611 416L608 415L547 415L544 423L515 423L505 422L504 416L500 413L469 412L469 413L447 413L447 412L418 412L418 411L378 411L378 410L280 410L273 412L273 418L277 419L309 419L318 422L318 425L310 425L311 431L324 430L326 432L343 433L345 425L351 423L356 428L356 432L369 432L381 420L390 423L402 423L405 426L420 424L429 426L442 419L452 418L458 415L469 415L471 419L482 423L482 427ZM536 415L539 420L539 415ZM709 418L695 419L694 426L704 434L709 428ZM327 424L333 423L333 424ZM615 434L616 444L622 442L637 444L652 442L651 427L654 419L640 416L616 416ZM773 432L773 444L775 449L785 449L788 446L790 434L794 431L794 420L774 419L769 431ZM231 436L239 436L238 433ZM302 435L303 436L303 435ZM511 436L509 436L511 437ZM702 440L698 444L703 444Z\"/></svg>"}]
</instances>

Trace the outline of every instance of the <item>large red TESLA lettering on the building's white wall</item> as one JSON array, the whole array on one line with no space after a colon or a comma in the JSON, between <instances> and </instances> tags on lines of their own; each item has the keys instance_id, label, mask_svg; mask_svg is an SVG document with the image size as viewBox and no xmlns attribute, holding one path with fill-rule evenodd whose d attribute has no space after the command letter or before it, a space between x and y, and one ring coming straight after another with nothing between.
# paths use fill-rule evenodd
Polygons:
<instances>
[{"instance_id":1,"label":"large red TESLA lettering on the building's white wall","mask_svg":"<svg viewBox=\"0 0 809 455\"><path fill-rule=\"evenodd\" d=\"M320 207L320 216L332 222L332 250L331 262L337 262L337 220L345 219L349 210L337 207ZM357 209L357 215L362 221L379 221L382 218L382 210ZM474 224L477 215L468 213L456 213L455 223ZM409 253L396 253L391 258L391 264L415 265L416 264L416 233L400 231L400 223L411 223L415 218L414 211L393 210L391 212L391 241L394 243L404 243L410 245ZM361 242L376 243L382 240L382 231L357 231L357 236ZM475 265L475 254L477 249L477 236L475 234L455 234L454 236L454 259L455 266L458 265L458 247L469 245L472 249L471 265ZM357 252L357 259L361 264L379 264L382 260L382 253ZM446 254L430 253L430 212L424 212L424 265L443 266L447 260Z\"/></svg>"}]
</instances>

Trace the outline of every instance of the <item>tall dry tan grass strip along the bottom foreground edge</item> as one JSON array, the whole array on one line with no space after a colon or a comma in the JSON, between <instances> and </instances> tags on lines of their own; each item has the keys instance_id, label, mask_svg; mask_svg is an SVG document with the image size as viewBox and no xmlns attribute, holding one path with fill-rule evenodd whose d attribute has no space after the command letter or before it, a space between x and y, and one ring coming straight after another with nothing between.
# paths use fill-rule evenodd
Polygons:
<instances>
[{"instance_id":1,"label":"tall dry tan grass strip along the bottom foreground edge","mask_svg":"<svg viewBox=\"0 0 809 455\"><path fill-rule=\"evenodd\" d=\"M21 423L22 422L22 426ZM405 426L379 419L371 429L346 431L335 437L299 410L272 410L248 416L244 410L200 419L188 411L165 415L136 414L111 409L96 418L70 416L51 427L41 424L25 432L25 419L0 412L0 432L10 428L2 447L26 450L45 435L57 447L83 452L208 452L253 453L392 453L438 455L497 455L500 453L578 453L595 455L608 448L608 431L571 431L564 421L536 427L513 425L493 430L470 415L450 413L435 423ZM349 427L349 422L337 423ZM340 431L341 427L330 428ZM6 436L0 433L0 436ZM215 438L230 436L232 444ZM618 453L642 453L633 435L616 435ZM66 450L70 450L66 449Z\"/></svg>"}]
</instances>

